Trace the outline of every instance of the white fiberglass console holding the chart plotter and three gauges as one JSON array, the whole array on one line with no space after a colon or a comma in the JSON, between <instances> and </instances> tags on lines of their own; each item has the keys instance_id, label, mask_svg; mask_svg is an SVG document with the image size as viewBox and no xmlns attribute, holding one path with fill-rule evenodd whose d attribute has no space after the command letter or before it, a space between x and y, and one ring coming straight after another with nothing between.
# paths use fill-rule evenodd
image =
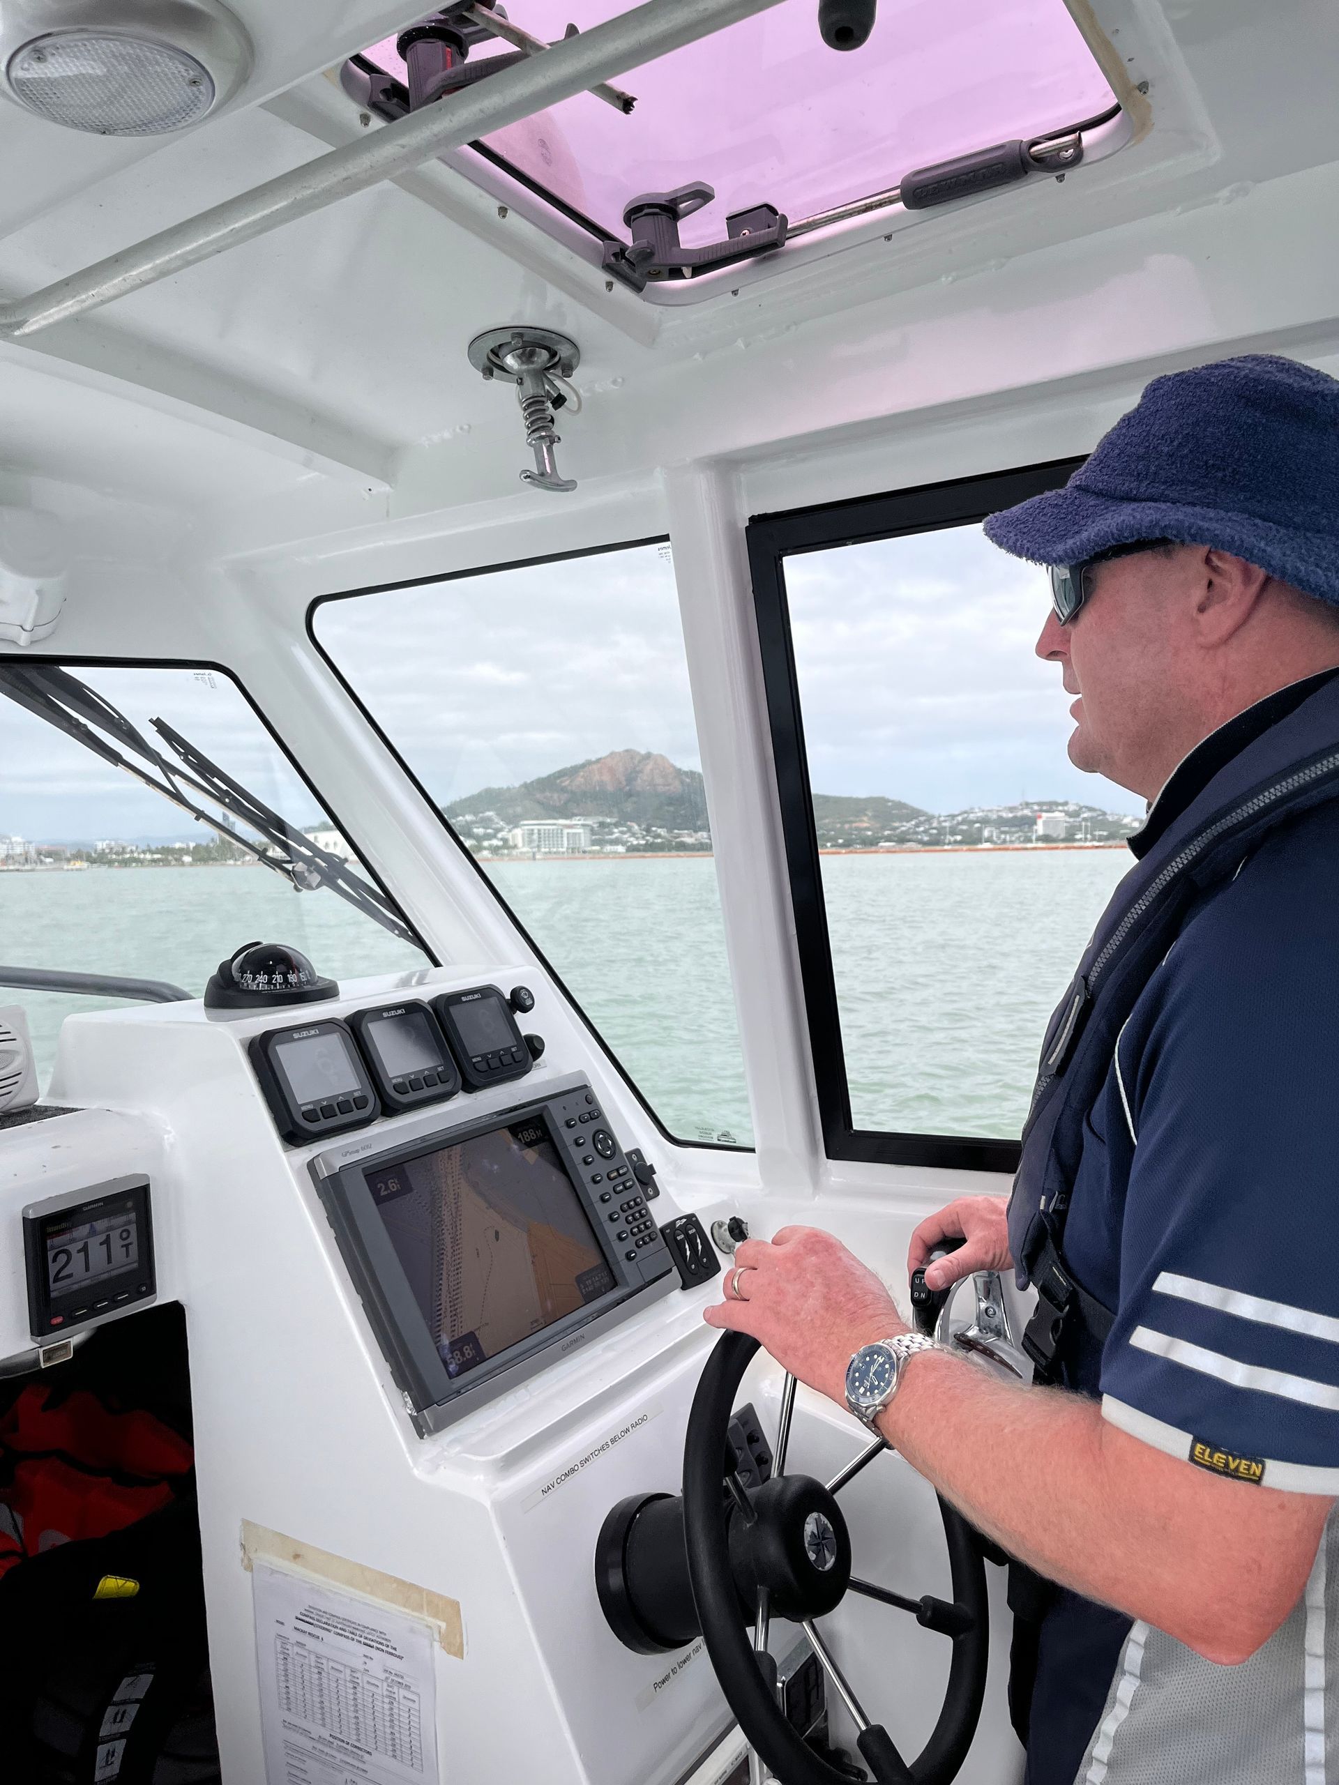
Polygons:
<instances>
[{"instance_id":1,"label":"white fiberglass console holding the chart plotter and three gauges","mask_svg":"<svg viewBox=\"0 0 1339 1785\"><path fill-rule=\"evenodd\" d=\"M329 1678L320 1701L311 1681L293 1696L275 1582L312 1619L353 1606L391 1637L407 1614L428 1631L398 1687L412 1764L382 1753L377 1781L673 1785L732 1723L702 1646L630 1653L595 1585L609 1507L678 1478L716 1289L682 1289L661 1239L682 1210L559 1000L536 985L539 1059L482 1046L509 1041L487 1030L496 1012L455 1016L459 996L518 978L428 971L302 1010L70 1017L50 1098L77 1114L12 1137L12 1183L0 1135L5 1214L36 1200L61 1132L87 1128L89 1183L150 1182L157 1299L187 1317L227 1785L287 1785L298 1765L343 1785L341 1753L353 1765ZM405 1007L432 1025L373 1021ZM443 1037L457 1051L437 1064L423 1050ZM645 1117L639 1133L653 1151Z\"/></svg>"}]
</instances>

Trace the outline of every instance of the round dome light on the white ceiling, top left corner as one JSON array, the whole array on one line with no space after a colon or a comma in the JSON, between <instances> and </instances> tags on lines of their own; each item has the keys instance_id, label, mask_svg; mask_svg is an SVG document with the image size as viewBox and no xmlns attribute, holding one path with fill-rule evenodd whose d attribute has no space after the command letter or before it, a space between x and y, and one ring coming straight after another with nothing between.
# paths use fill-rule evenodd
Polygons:
<instances>
[{"instance_id":1,"label":"round dome light on the white ceiling, top left corner","mask_svg":"<svg viewBox=\"0 0 1339 1785\"><path fill-rule=\"evenodd\" d=\"M25 111L98 136L184 130L250 66L241 27L209 0L0 0L0 55Z\"/></svg>"}]
</instances>

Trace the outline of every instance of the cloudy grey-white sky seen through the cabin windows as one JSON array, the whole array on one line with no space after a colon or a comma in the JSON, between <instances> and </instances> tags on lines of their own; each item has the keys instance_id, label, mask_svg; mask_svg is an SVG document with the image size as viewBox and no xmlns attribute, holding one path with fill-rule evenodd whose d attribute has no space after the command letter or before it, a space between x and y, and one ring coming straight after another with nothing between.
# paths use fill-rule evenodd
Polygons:
<instances>
[{"instance_id":1,"label":"cloudy grey-white sky seen through the cabin windows","mask_svg":"<svg viewBox=\"0 0 1339 1785\"><path fill-rule=\"evenodd\" d=\"M787 587L818 793L941 812L1039 798L1137 809L1069 766L1068 698L1032 655L1044 577L978 528L793 559ZM330 602L316 634L441 801L609 750L700 766L668 546ZM321 816L223 677L80 673L141 728L170 719L286 818ZM0 700L5 834L198 832Z\"/></svg>"}]
</instances>

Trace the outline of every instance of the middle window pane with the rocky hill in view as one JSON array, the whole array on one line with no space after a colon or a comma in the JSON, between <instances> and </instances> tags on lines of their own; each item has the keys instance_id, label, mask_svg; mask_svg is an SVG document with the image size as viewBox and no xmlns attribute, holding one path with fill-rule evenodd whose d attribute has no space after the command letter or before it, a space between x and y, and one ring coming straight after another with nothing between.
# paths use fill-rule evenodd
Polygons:
<instances>
[{"instance_id":1,"label":"middle window pane with the rocky hill in view","mask_svg":"<svg viewBox=\"0 0 1339 1785\"><path fill-rule=\"evenodd\" d=\"M670 548L327 600L312 632L662 1126L752 1144Z\"/></svg>"}]
</instances>

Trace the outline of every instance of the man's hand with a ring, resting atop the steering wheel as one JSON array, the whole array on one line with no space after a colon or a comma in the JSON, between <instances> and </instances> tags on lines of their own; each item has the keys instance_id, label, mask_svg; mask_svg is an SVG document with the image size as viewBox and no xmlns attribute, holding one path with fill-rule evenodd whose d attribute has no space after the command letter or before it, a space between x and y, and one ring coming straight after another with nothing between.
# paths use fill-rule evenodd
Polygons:
<instances>
[{"instance_id":1,"label":"man's hand with a ring, resting atop the steering wheel","mask_svg":"<svg viewBox=\"0 0 1339 1785\"><path fill-rule=\"evenodd\" d=\"M730 1280L739 1269L739 1294ZM907 1332L884 1283L818 1228L782 1228L746 1239L727 1264L725 1301L707 1308L709 1326L752 1333L793 1376L846 1405L846 1366L862 1344Z\"/></svg>"}]
</instances>

